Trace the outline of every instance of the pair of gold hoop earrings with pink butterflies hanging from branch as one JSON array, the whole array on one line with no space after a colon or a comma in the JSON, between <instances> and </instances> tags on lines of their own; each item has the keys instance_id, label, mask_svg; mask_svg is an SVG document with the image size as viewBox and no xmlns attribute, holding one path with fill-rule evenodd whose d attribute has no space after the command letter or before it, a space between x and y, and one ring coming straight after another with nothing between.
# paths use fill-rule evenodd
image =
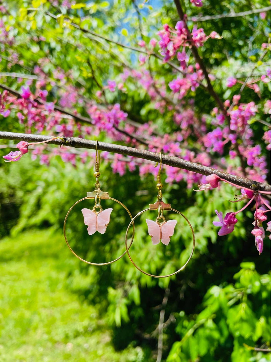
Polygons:
<instances>
[{"instance_id":1,"label":"pair of gold hoop earrings with pink butterflies hanging from branch","mask_svg":"<svg viewBox=\"0 0 271 362\"><path fill-rule=\"evenodd\" d=\"M183 270L185 268L185 266L188 264L188 262L190 261L190 259L192 258L193 252L194 252L194 247L195 247L195 235L194 235L194 231L193 228L189 222L189 220L180 212L177 211L175 209L171 208L170 204L166 204L163 202L162 198L162 188L163 185L161 184L161 168L162 168L162 153L159 152L160 155L160 167L159 167L159 171L158 171L158 175L157 175L157 184L156 184L156 188L158 189L158 195L157 195L157 201L153 204L149 205L149 208L142 210L140 212L138 212L138 214L134 217L132 217L130 211L127 209L127 207L120 202L117 199L114 199L112 197L109 197L108 192L104 192L100 189L100 183L99 183L99 177L100 177L100 172L99 172L99 166L100 166L100 152L97 149L98 147L98 141L96 141L96 155L95 155L95 172L94 172L94 177L96 178L96 183L95 183L95 189L92 192L88 192L87 196L78 200L77 202L75 202L72 207L70 207L69 211L67 212L66 216L65 216L65 220L64 220L64 237L65 237L65 241L66 244L68 245L70 251L74 254L74 256L76 256L79 260L90 264L90 265L108 265L108 264L112 264L113 262L119 260L120 258L122 258L126 253L130 259L130 261L132 262L132 264L142 273L149 275L150 277L154 277L154 278L166 278L166 277L171 277L172 275L175 275L177 273L179 273L181 270ZM156 166L158 165L158 163L156 164ZM85 223L85 225L87 226L87 232L89 235L93 235L96 231L98 231L100 234L104 234L106 232L107 226L110 222L110 215L112 212L112 208L109 209L105 209L103 210L100 201L103 199L109 199L112 201L115 201L117 203L119 203L122 207L124 207L124 209L128 212L128 215L130 216L130 223L127 227L126 230L126 234L125 234L125 252L123 254L121 254L121 256L117 257L114 260L111 260L109 262L106 263L95 263L95 262L90 262L87 261L81 257L79 257L74 251L73 249L70 247L69 242L67 240L66 237L66 222L68 219L68 216L70 214L70 211L72 211L72 209L74 208L74 206L76 206L79 202L86 200L86 199L94 199L94 206L93 209L82 209L82 216L83 216L83 221ZM158 216L156 217L155 221L154 220L150 220L150 219L146 219L146 224L148 227L148 232L149 235L151 237L151 241L153 245L157 245L160 243L160 241L164 244L164 245L168 245L169 241L170 241L170 237L173 236L174 233L174 229L175 226L177 224L177 220L165 220L165 217L163 215L164 211L174 211L177 214L181 215L186 222L188 223L190 230L192 232L192 237L193 237L193 245L192 245L192 251L189 255L188 260L185 262L184 265L182 265L180 267L180 269L176 270L174 273L171 274L167 274L167 275L154 275L154 274L150 274L147 271L142 270L141 268L139 268L139 266L134 262L134 260L132 259L132 256L129 252L129 249L133 243L134 240L134 233L135 233L135 227L134 227L134 221L136 220L136 218L138 218L138 216L142 215L144 212L149 211L149 210L158 210ZM128 232L130 230L130 227L133 226L133 235L131 238L131 241L128 245Z\"/></svg>"}]
</instances>

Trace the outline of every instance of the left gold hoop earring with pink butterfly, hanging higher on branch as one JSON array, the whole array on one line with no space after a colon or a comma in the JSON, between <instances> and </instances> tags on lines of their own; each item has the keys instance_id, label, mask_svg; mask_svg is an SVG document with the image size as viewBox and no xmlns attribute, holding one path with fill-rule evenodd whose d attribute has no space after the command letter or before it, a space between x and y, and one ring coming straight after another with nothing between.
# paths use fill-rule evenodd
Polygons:
<instances>
[{"instance_id":1,"label":"left gold hoop earring with pink butterfly, hanging higher on branch","mask_svg":"<svg viewBox=\"0 0 271 362\"><path fill-rule=\"evenodd\" d=\"M92 210L86 209L86 208L81 210L82 211L82 221L85 223L85 225L87 225L87 232L89 235L93 235L95 232L104 234L106 232L107 226L110 222L110 215L111 215L111 212L113 209L109 208L109 209L103 210L103 208L100 204L101 200L107 199L107 200L113 200L113 201L119 203L128 212L131 220L133 219L132 215L130 214L130 211L127 209L127 207L125 205L123 205L122 202L120 202L119 200L116 200L112 197L109 197L108 192L104 192L100 189L100 183L99 183L100 151L97 150L97 146L98 146L98 140L96 141L96 147L95 147L95 172L93 174L94 177L96 178L95 189L92 192L88 192L86 197L83 197L82 199L76 201L73 204L73 206L70 207L69 211L67 212L67 214L65 216L63 231L64 231L64 238L65 238L66 244L68 245L68 247L69 247L70 251L73 253L73 255L76 256L79 260L81 260L87 264L90 264L90 265L108 265L108 264L112 264L113 262L122 258L126 254L126 251L123 254L121 254L121 256L119 256L116 259L111 260L109 262L94 263L94 262L87 261L87 260L84 260L81 257L79 257L73 251L73 249L70 247L69 242L66 237L66 222L67 222L68 216L70 214L70 211L72 211L74 206L76 206L79 202L86 200L86 199L94 199L94 206L93 206ZM134 239L134 223L133 223L133 235L132 235L132 239L131 239L129 248L133 243L133 239Z\"/></svg>"}]
</instances>

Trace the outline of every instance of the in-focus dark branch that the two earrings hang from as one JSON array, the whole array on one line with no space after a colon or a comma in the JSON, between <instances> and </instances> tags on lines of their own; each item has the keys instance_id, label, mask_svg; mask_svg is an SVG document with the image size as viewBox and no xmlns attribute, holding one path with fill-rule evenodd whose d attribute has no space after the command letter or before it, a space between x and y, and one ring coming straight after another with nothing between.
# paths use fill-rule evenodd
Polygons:
<instances>
[{"instance_id":1,"label":"in-focus dark branch that the two earrings hang from","mask_svg":"<svg viewBox=\"0 0 271 362\"><path fill-rule=\"evenodd\" d=\"M15 132L14 133L0 132L0 139L12 139L12 140L27 141L27 142L41 142L50 139L50 136L40 136L34 134L15 133ZM52 140L49 143L56 144L58 146L63 145L63 142L61 142L61 140L59 139ZM95 141L78 138L78 137L71 137L67 138L65 146L95 150L95 144L96 144ZM137 148L132 148L132 147L121 146L119 144L99 142L99 150L119 153L120 155L138 157L141 159L150 160L154 162L160 162L160 155L158 153L146 150L139 150ZM215 173L220 178L223 178L226 181L232 182L237 186L245 187L251 190L268 191L268 192L271 191L270 185L260 184L257 181L249 180L248 178L245 177L236 176L211 167L203 166L198 163L186 161L175 156L163 155L162 163L172 167L178 167L188 171L197 172L206 176Z\"/></svg>"}]
</instances>

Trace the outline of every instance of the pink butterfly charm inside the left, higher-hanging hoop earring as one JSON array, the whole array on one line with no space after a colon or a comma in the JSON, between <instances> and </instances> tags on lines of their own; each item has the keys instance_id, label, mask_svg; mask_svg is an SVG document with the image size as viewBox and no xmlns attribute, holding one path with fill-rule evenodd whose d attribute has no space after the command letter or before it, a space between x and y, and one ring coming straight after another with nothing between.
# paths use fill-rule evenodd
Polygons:
<instances>
[{"instance_id":1,"label":"pink butterfly charm inside the left, higher-hanging hoop earring","mask_svg":"<svg viewBox=\"0 0 271 362\"><path fill-rule=\"evenodd\" d=\"M98 213L90 209L81 210L84 216L84 223L88 226L87 232L89 235L93 235L96 231L99 231L100 234L106 232L112 210L113 209L106 209Z\"/></svg>"}]
</instances>

